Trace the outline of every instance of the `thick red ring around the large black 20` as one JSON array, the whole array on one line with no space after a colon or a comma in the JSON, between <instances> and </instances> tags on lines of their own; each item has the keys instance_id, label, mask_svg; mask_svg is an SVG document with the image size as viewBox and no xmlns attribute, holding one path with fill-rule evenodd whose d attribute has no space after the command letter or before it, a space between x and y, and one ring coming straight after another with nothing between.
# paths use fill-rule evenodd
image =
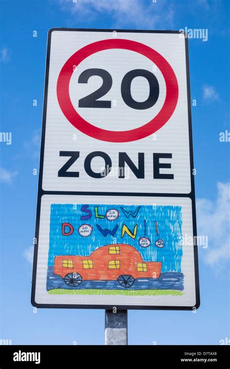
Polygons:
<instances>
[{"instance_id":1,"label":"thick red ring around the large black 20","mask_svg":"<svg viewBox=\"0 0 230 369\"><path fill-rule=\"evenodd\" d=\"M129 131L107 131L95 127L91 123L83 119L74 109L69 96L69 82L74 71L74 67L78 66L85 58L107 49L126 49L138 52L150 59L162 72L166 84L166 96L164 105L160 112L148 123L141 127ZM75 67L75 68L76 68ZM66 61L58 76L57 81L57 98L63 114L68 121L79 131L90 137L108 142L130 142L147 137L158 131L168 119L172 116L178 101L178 82L176 75L170 64L159 54L159 52L151 49L149 46L140 42L122 39L102 40L93 42L82 49L76 51Z\"/></svg>"}]
</instances>

